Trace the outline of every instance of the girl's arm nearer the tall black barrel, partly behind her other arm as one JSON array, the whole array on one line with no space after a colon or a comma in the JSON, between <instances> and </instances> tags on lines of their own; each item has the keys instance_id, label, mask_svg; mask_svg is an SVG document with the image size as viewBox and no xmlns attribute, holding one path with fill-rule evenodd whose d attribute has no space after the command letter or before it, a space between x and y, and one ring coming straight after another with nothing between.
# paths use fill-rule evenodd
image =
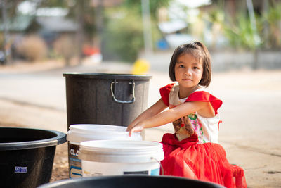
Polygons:
<instances>
[{"instance_id":1,"label":"girl's arm nearer the tall black barrel, partly behind her other arm","mask_svg":"<svg viewBox=\"0 0 281 188\"><path fill-rule=\"evenodd\" d=\"M167 108L166 104L162 101L162 99L159 99L155 104L150 106L147 110L145 110L141 115L138 115L138 117L133 120L133 122L127 127L127 131L131 130L131 127L136 125L137 123L146 120L148 118L151 118L154 115L157 115L158 113L164 111L164 109Z\"/></svg>"}]
</instances>

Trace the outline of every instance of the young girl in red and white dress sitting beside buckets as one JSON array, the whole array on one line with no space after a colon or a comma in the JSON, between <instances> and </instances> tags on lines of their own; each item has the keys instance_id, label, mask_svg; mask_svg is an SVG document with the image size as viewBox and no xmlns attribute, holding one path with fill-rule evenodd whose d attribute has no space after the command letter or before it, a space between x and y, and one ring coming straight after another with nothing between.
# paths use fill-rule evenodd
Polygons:
<instances>
[{"instance_id":1,"label":"young girl in red and white dress sitting beside buckets","mask_svg":"<svg viewBox=\"0 0 281 188\"><path fill-rule=\"evenodd\" d=\"M206 46L201 42L178 46L171 57L169 76L177 84L160 89L161 99L133 120L127 128L129 134L173 123L175 133L162 138L164 175L247 187L242 168L230 165L217 144L222 101L204 89L211 82Z\"/></svg>"}]
</instances>

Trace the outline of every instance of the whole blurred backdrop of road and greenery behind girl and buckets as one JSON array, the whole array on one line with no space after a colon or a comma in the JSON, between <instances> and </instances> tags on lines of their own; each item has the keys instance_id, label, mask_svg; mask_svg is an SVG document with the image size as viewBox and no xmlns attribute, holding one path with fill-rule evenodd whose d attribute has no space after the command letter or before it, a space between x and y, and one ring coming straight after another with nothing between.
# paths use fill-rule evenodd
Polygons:
<instances>
[{"instance_id":1,"label":"whole blurred backdrop of road and greenery behind girl and buckets","mask_svg":"<svg viewBox=\"0 0 281 188\"><path fill-rule=\"evenodd\" d=\"M0 0L0 126L67 132L65 72L148 73L151 106L176 46L195 40L211 54L228 160L248 187L280 187L281 0ZM58 148L52 180L68 177Z\"/></svg>"}]
</instances>

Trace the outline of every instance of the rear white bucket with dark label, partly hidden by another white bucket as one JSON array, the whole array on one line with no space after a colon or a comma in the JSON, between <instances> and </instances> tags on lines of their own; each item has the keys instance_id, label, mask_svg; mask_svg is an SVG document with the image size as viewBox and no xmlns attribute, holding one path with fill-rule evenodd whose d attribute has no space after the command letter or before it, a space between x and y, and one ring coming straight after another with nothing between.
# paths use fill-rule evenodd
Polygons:
<instances>
[{"instance_id":1,"label":"rear white bucket with dark label, partly hidden by another white bucket","mask_svg":"<svg viewBox=\"0 0 281 188\"><path fill-rule=\"evenodd\" d=\"M70 130L67 132L70 178L82 177L81 160L78 158L80 142L105 139L141 140L142 137L139 132L134 132L129 137L126 127L122 126L96 124L70 125Z\"/></svg>"}]
</instances>

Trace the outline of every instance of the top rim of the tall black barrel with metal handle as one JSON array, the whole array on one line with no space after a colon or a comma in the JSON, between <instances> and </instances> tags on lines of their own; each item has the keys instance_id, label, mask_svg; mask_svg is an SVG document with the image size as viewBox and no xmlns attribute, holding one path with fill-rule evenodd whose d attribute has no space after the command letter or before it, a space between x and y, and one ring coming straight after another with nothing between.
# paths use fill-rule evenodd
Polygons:
<instances>
[{"instance_id":1,"label":"top rim of the tall black barrel with metal handle","mask_svg":"<svg viewBox=\"0 0 281 188\"><path fill-rule=\"evenodd\" d=\"M149 80L152 75L132 74L107 74L107 73L63 73L64 77L83 77L96 79L118 79L118 80Z\"/></svg>"}]
</instances>

